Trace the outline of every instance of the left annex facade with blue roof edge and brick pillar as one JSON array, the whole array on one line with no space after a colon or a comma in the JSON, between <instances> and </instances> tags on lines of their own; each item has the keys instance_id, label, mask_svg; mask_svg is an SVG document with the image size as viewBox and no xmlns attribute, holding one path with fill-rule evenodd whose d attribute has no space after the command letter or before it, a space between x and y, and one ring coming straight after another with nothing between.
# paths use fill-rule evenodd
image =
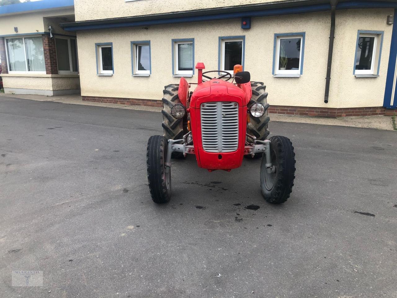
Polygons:
<instances>
[{"instance_id":1,"label":"left annex facade with blue roof edge and brick pillar","mask_svg":"<svg viewBox=\"0 0 397 298\"><path fill-rule=\"evenodd\" d=\"M63 95L80 92L73 0L0 6L0 60L5 93Z\"/></svg>"}]
</instances>

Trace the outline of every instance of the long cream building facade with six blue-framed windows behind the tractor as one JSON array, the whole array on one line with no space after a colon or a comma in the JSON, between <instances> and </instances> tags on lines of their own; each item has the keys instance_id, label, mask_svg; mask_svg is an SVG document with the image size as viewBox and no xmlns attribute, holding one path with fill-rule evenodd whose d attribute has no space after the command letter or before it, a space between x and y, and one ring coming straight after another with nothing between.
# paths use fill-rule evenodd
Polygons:
<instances>
[{"instance_id":1,"label":"long cream building facade with six blue-framed windows behind the tractor","mask_svg":"<svg viewBox=\"0 0 397 298\"><path fill-rule=\"evenodd\" d=\"M273 113L384 115L397 105L396 8L377 0L75 0L75 21L59 30L77 36L83 100L162 106L164 86L181 76L197 82L194 66L203 62L205 70L242 64L267 85Z\"/></svg>"}]
</instances>

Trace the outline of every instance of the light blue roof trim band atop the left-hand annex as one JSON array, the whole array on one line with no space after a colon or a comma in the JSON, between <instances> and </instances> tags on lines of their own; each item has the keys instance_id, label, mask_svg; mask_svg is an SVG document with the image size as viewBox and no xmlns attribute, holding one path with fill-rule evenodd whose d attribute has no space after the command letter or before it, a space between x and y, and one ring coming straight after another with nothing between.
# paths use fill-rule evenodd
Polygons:
<instances>
[{"instance_id":1,"label":"light blue roof trim band atop the left-hand annex","mask_svg":"<svg viewBox=\"0 0 397 298\"><path fill-rule=\"evenodd\" d=\"M24 3L0 6L0 15L15 14L18 12L28 12L32 10L62 8L68 6L73 7L74 1L73 0L41 0L34 2L24 2Z\"/></svg>"}]
</instances>

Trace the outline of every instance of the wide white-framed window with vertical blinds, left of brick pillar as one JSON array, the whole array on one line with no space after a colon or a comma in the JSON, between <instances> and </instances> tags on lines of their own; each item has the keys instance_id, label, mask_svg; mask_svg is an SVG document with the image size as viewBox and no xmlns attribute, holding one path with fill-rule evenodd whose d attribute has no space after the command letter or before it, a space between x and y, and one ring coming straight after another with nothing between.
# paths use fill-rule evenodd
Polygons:
<instances>
[{"instance_id":1,"label":"wide white-framed window with vertical blinds, left of brick pillar","mask_svg":"<svg viewBox=\"0 0 397 298\"><path fill-rule=\"evenodd\" d=\"M41 36L6 39L10 72L46 73Z\"/></svg>"}]
</instances>

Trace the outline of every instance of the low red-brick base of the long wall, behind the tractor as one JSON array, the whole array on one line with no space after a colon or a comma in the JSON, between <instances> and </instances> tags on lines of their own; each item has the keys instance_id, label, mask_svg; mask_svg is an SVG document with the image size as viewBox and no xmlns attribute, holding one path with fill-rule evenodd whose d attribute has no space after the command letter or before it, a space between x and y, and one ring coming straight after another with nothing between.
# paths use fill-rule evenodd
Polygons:
<instances>
[{"instance_id":1,"label":"low red-brick base of the long wall, behind the tractor","mask_svg":"<svg viewBox=\"0 0 397 298\"><path fill-rule=\"evenodd\" d=\"M119 97L83 96L83 101L95 101L97 103L117 103L135 106L162 107L163 102L155 99L132 99ZM355 117L355 116L393 116L397 110L388 110L382 106L370 106L364 108L315 108L310 106L270 106L270 114L313 116L313 117Z\"/></svg>"}]
</instances>

